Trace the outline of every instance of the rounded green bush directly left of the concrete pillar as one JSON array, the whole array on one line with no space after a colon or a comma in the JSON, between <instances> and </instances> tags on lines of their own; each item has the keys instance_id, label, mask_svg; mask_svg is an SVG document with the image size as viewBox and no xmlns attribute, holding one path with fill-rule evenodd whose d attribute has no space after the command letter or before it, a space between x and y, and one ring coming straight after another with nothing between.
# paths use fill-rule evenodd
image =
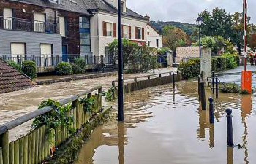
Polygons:
<instances>
[{"instance_id":1,"label":"rounded green bush directly left of the concrete pillar","mask_svg":"<svg viewBox=\"0 0 256 164\"><path fill-rule=\"evenodd\" d=\"M181 63L178 66L178 71L184 79L197 77L200 73L200 59L191 59L187 63Z\"/></svg>"}]
</instances>

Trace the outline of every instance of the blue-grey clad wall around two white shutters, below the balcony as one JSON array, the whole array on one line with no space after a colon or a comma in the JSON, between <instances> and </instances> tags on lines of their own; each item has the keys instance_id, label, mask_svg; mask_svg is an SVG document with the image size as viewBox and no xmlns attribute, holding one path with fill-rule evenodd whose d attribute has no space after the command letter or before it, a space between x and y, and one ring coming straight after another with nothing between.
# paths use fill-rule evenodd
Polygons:
<instances>
[{"instance_id":1,"label":"blue-grey clad wall around two white shutters, below the balcony","mask_svg":"<svg viewBox=\"0 0 256 164\"><path fill-rule=\"evenodd\" d=\"M40 44L53 44L53 54L62 54L60 34L0 30L0 54L11 54L11 43L26 43L27 54L41 54Z\"/></svg>"}]
</instances>

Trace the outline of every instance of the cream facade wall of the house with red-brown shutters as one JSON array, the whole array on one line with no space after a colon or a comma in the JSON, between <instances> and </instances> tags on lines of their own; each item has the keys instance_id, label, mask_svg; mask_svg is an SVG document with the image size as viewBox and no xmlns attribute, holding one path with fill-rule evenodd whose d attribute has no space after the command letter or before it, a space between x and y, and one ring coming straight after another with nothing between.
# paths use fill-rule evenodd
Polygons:
<instances>
[{"instance_id":1,"label":"cream facade wall of the house with red-brown shutters","mask_svg":"<svg viewBox=\"0 0 256 164\"><path fill-rule=\"evenodd\" d=\"M116 37L103 36L103 22L116 23ZM105 55L105 47L118 37L117 15L98 12L91 17L91 51L95 55ZM123 17L123 25L131 26L131 39L136 42L146 42L147 21ZM135 40L135 26L144 28L144 40Z\"/></svg>"}]
</instances>

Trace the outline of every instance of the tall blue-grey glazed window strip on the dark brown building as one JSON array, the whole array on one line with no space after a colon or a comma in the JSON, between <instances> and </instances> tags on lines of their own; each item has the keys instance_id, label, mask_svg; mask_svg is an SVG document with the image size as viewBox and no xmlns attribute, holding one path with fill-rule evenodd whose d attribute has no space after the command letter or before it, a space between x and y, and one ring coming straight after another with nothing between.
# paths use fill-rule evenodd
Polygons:
<instances>
[{"instance_id":1,"label":"tall blue-grey glazed window strip on the dark brown building","mask_svg":"<svg viewBox=\"0 0 256 164\"><path fill-rule=\"evenodd\" d=\"M80 52L91 52L90 18L79 17Z\"/></svg>"}]
</instances>

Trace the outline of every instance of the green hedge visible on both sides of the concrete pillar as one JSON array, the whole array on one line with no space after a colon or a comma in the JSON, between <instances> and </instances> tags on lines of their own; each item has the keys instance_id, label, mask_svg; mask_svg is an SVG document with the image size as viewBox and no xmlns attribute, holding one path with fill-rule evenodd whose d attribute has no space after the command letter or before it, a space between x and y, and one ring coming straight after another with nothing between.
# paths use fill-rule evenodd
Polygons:
<instances>
[{"instance_id":1,"label":"green hedge visible on both sides of the concrete pillar","mask_svg":"<svg viewBox=\"0 0 256 164\"><path fill-rule=\"evenodd\" d=\"M234 69L238 65L239 56L237 54L223 54L211 59L211 70L214 72ZM181 63L178 66L178 71L182 74L183 79L197 77L200 73L200 59L191 59L187 63Z\"/></svg>"}]
</instances>

